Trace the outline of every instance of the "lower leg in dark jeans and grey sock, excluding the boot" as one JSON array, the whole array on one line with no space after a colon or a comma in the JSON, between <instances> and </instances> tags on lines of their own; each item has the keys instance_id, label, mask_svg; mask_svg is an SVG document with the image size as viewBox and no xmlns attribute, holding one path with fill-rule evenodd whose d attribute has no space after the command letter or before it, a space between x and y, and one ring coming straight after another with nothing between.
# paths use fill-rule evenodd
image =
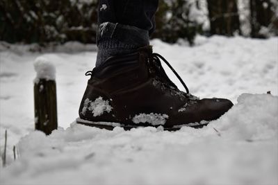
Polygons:
<instances>
[{"instance_id":1,"label":"lower leg in dark jeans and grey sock, excluding the boot","mask_svg":"<svg viewBox=\"0 0 278 185\"><path fill-rule=\"evenodd\" d=\"M96 66L111 56L133 53L148 45L157 8L158 0L100 0Z\"/></svg>"}]
</instances>

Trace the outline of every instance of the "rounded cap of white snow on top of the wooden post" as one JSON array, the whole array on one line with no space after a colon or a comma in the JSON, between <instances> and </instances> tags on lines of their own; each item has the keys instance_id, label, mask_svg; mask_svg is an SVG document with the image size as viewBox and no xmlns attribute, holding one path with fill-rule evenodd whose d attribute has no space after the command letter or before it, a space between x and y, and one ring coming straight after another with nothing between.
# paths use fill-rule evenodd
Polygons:
<instances>
[{"instance_id":1,"label":"rounded cap of white snow on top of the wooden post","mask_svg":"<svg viewBox=\"0 0 278 185\"><path fill-rule=\"evenodd\" d=\"M35 77L34 80L35 83L38 83L40 79L55 80L56 68L52 62L47 60L47 58L44 57L36 58L34 67L35 67L35 71L37 72L37 76Z\"/></svg>"}]
</instances>

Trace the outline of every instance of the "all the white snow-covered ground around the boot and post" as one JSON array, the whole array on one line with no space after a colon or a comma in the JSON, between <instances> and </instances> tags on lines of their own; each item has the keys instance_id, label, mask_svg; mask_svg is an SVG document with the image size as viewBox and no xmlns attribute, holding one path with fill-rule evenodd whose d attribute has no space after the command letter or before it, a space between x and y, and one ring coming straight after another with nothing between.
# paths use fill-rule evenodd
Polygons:
<instances>
[{"instance_id":1,"label":"all the white snow-covered ground around the boot and post","mask_svg":"<svg viewBox=\"0 0 278 185\"><path fill-rule=\"evenodd\" d=\"M8 166L0 169L1 184L278 184L277 37L197 37L194 47L155 39L152 45L190 93L229 98L236 105L198 130L107 131L76 125L95 46L75 43L32 53L33 46L0 44L1 154L8 130ZM33 132L38 56L56 66L60 127L50 136Z\"/></svg>"}]
</instances>

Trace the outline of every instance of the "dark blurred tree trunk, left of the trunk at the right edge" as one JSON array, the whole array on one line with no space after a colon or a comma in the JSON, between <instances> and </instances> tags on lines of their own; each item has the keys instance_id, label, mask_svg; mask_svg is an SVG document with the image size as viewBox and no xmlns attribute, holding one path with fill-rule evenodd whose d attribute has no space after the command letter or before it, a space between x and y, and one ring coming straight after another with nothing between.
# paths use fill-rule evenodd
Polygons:
<instances>
[{"instance_id":1,"label":"dark blurred tree trunk, left of the trunk at the right edge","mask_svg":"<svg viewBox=\"0 0 278 185\"><path fill-rule=\"evenodd\" d=\"M241 34L236 0L208 0L211 35Z\"/></svg>"}]
</instances>

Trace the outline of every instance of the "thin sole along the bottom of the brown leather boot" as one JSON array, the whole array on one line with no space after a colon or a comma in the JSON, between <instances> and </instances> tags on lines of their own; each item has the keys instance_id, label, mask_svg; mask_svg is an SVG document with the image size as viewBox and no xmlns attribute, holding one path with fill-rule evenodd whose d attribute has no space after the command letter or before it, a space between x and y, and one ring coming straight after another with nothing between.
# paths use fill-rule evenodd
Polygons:
<instances>
[{"instance_id":1,"label":"thin sole along the bottom of the brown leather boot","mask_svg":"<svg viewBox=\"0 0 278 185\"><path fill-rule=\"evenodd\" d=\"M98 128L106 129L106 130L113 130L114 127L122 127L122 128L124 128L124 130L131 130L131 128L136 128L136 127L144 127L142 125L125 125L122 123L113 123L113 122L87 121L87 120L83 120L81 118L76 118L76 123L81 124L81 125L90 126L90 127L98 127ZM200 123L188 123L186 125L175 125L174 127L163 127L163 130L176 131L176 130L180 130L181 127L183 127L183 126L201 128L201 127L208 125L208 123L209 123L208 121L201 121ZM147 127L147 126L149 126L149 125L146 125L145 127ZM161 126L161 125L152 126L152 127L159 127L159 126Z\"/></svg>"}]
</instances>

